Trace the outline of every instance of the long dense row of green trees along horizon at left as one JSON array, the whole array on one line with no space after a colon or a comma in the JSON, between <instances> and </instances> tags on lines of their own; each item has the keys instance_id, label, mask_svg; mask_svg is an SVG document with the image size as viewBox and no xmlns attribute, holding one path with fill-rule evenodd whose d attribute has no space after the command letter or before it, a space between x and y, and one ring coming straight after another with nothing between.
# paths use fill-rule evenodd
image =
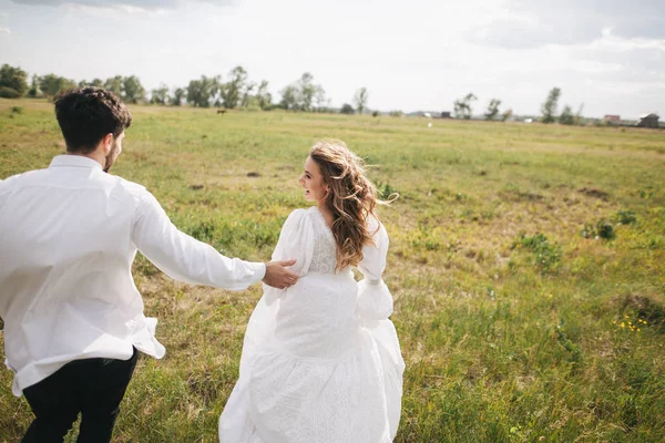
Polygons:
<instances>
[{"instance_id":1,"label":"long dense row of green trees along horizon at left","mask_svg":"<svg viewBox=\"0 0 665 443\"><path fill-rule=\"evenodd\" d=\"M28 83L28 73L20 68L3 64L0 68L0 97L17 99L47 97L53 99L60 91L72 87L99 86L112 91L126 103L149 103L155 105L195 107L254 107L265 111L284 109L303 112L336 112L330 107L330 99L324 87L316 83L314 75L305 72L298 80L279 91L280 100L275 102L268 91L268 81L255 82L249 79L243 66L236 66L227 74L224 82L222 75L202 75L191 80L186 86L170 89L162 84L150 92L141 84L137 76L115 75L106 80L74 81L55 74L32 75ZM367 111L369 93L360 87L354 99L354 107L345 103L339 112L362 114Z\"/></svg>"}]
</instances>

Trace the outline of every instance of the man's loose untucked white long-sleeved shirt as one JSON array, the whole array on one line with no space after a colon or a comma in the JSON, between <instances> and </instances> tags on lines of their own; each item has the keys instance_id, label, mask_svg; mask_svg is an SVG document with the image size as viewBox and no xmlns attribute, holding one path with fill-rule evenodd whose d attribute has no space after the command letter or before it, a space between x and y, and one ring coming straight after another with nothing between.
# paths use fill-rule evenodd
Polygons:
<instances>
[{"instance_id":1,"label":"man's loose untucked white long-sleeved shirt","mask_svg":"<svg viewBox=\"0 0 665 443\"><path fill-rule=\"evenodd\" d=\"M157 359L156 319L132 278L140 250L172 278L242 290L265 265L222 256L181 233L143 186L61 155L0 181L0 317L13 393L72 360Z\"/></svg>"}]
</instances>

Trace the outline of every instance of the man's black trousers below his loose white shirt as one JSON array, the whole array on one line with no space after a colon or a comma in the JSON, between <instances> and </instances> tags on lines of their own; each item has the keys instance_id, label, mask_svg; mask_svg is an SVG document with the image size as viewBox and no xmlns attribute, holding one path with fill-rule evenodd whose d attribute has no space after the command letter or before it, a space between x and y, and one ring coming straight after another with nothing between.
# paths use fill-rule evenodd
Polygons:
<instances>
[{"instance_id":1,"label":"man's black trousers below his loose white shirt","mask_svg":"<svg viewBox=\"0 0 665 443\"><path fill-rule=\"evenodd\" d=\"M110 442L139 351L130 360L74 360L23 390L34 421L23 443L62 442L82 414L79 443Z\"/></svg>"}]
</instances>

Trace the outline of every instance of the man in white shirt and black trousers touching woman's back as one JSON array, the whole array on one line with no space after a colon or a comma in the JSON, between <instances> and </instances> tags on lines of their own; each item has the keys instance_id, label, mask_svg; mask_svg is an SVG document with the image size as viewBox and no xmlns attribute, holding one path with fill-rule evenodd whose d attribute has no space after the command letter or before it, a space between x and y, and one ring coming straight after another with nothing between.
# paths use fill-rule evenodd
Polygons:
<instances>
[{"instance_id":1,"label":"man in white shirt and black trousers touching woman's back","mask_svg":"<svg viewBox=\"0 0 665 443\"><path fill-rule=\"evenodd\" d=\"M232 290L291 286L295 261L224 257L144 187L105 174L132 123L113 93L69 91L55 115L68 155L0 182L6 363L35 415L23 442L62 442L79 412L79 442L109 442L137 352L165 352L132 278L136 250L172 278Z\"/></svg>"}]
</instances>

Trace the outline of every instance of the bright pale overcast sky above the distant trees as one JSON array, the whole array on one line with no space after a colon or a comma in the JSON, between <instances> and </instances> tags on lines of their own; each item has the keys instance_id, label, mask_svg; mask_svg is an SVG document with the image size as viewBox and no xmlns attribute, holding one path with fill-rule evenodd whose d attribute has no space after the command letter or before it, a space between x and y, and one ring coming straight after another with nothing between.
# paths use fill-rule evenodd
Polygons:
<instances>
[{"instance_id":1,"label":"bright pale overcast sky above the distant trees","mask_svg":"<svg viewBox=\"0 0 665 443\"><path fill-rule=\"evenodd\" d=\"M310 72L339 106L451 111L473 92L538 114L665 114L665 0L0 0L0 63L185 86L243 65L278 91Z\"/></svg>"}]
</instances>

